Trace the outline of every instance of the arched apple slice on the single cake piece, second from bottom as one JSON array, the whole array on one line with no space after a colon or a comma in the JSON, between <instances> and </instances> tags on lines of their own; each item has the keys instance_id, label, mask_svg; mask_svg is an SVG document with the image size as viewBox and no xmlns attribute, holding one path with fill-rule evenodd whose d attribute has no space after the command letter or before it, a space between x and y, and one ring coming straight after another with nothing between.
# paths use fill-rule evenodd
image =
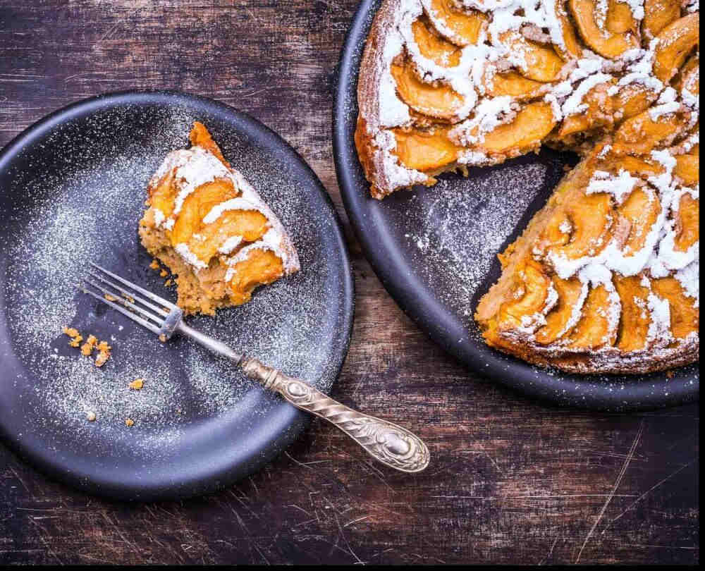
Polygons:
<instances>
[{"instance_id":1,"label":"arched apple slice on the single cake piece, second from bottom","mask_svg":"<svg viewBox=\"0 0 705 571\"><path fill-rule=\"evenodd\" d=\"M239 236L242 242L255 242L262 238L269 223L257 210L226 210L212 223L204 224L198 237L192 236L189 250L204 262L214 257L229 238Z\"/></svg>"}]
</instances>

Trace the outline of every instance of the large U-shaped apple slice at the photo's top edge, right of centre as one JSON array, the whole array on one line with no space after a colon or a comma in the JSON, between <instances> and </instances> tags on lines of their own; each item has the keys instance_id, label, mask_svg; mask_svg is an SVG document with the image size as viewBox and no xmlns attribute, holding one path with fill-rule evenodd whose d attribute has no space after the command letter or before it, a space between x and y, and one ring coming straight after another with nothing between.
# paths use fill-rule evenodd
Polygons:
<instances>
[{"instance_id":1,"label":"large U-shaped apple slice at the photo's top edge, right of centre","mask_svg":"<svg viewBox=\"0 0 705 571\"><path fill-rule=\"evenodd\" d=\"M639 47L639 38L632 31L610 32L606 23L599 24L597 0L569 0L568 7L577 25L577 30L588 47L603 57L615 59L627 49ZM605 18L608 15L604 15ZM613 23L616 29L616 23Z\"/></svg>"}]
</instances>

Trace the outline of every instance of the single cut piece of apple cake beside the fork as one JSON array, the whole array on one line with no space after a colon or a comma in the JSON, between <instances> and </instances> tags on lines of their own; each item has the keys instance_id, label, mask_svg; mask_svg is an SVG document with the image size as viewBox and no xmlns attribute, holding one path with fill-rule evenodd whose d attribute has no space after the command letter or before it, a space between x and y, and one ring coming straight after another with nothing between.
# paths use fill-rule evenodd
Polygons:
<instances>
[{"instance_id":1,"label":"single cut piece of apple cake beside the fork","mask_svg":"<svg viewBox=\"0 0 705 571\"><path fill-rule=\"evenodd\" d=\"M147 186L142 245L176 275L178 306L212 315L299 269L274 212L223 158L202 123L188 149L166 156Z\"/></svg>"}]
</instances>

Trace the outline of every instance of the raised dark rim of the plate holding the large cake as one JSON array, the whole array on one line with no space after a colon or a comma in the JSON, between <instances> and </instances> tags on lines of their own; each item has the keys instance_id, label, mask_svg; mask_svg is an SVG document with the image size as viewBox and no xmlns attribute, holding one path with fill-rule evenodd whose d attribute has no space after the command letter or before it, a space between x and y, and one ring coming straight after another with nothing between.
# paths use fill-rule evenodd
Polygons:
<instances>
[{"instance_id":1,"label":"raised dark rim of the plate holding the large cake","mask_svg":"<svg viewBox=\"0 0 705 571\"><path fill-rule=\"evenodd\" d=\"M362 192L355 184L355 178L362 172L362 167L354 145L352 145L354 117L357 116L357 75L360 58L367 30L374 18L374 14L371 12L376 13L382 1L384 0L362 0L360 2L353 20L350 22L350 27L348 27L345 42L341 47L336 67L335 99L332 113L333 159L343 205L348 219L350 219L350 226L353 227L355 238L360 242L362 252L375 274L400 309L434 343L459 360L466 369L470 369L492 382L501 383L503 386L524 393L544 405L551 403L577 410L626 412L654 410L684 405L698 400L699 382L689 383L687 382L689 379L678 379L678 376L665 381L668 383L668 392L665 394L651 391L654 385L652 382L630 384L625 391L612 391L603 381L596 379L590 381L591 376L589 375L567 374L564 381L545 374L542 369L537 373L535 372L536 367L533 365L487 347L484 351L474 350L471 351L472 355L467 355L460 350L459 344L455 343L457 336L451 340L450 330L445 324L433 319L434 314L440 313L438 311L438 308L441 307L439 300L429 300L429 296L424 295L424 292L419 292L413 285L410 287L410 276L404 276L402 280L396 257L388 254L384 247L380 247L381 242L374 240L374 228L370 228L369 222L373 217L370 216L369 204L374 199L369 196L367 181L363 184ZM364 180L364 176L362 178ZM524 369L525 379L529 376L527 372L531 371L534 377L533 381L520 380L511 374L511 372L517 372L521 369ZM658 374L665 376L665 372L651 375Z\"/></svg>"}]
</instances>

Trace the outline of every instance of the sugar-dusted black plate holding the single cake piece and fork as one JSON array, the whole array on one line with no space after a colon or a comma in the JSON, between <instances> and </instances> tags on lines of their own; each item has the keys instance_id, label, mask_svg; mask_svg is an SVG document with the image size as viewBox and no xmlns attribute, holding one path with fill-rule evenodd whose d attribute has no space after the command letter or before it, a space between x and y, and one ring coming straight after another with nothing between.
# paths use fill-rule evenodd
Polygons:
<instances>
[{"instance_id":1,"label":"sugar-dusted black plate holding the single cake piece and fork","mask_svg":"<svg viewBox=\"0 0 705 571\"><path fill-rule=\"evenodd\" d=\"M348 350L353 281L338 218L276 133L173 92L109 94L51 114L0 154L0 434L93 493L146 500L217 489L273 459L307 424L230 363L183 338L159 343L72 286L94 260L175 297L147 267L137 221L149 176L186 145L195 120L288 228L302 270L190 325L326 392ZM111 360L94 367L68 347L64 325L109 340ZM130 391L138 377L144 388Z\"/></svg>"}]
</instances>

